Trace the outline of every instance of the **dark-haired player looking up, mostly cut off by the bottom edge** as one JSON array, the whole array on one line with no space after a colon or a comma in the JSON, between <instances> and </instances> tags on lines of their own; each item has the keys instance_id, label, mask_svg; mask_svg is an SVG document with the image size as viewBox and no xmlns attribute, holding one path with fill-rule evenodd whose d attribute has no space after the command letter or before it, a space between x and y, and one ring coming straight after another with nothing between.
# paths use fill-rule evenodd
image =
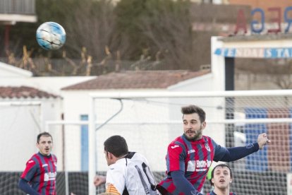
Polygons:
<instances>
[{"instance_id":1,"label":"dark-haired player looking up, mostly cut off by the bottom edge","mask_svg":"<svg viewBox=\"0 0 292 195\"><path fill-rule=\"evenodd\" d=\"M236 195L230 192L232 172L228 165L216 165L211 172L211 184L214 189L207 195Z\"/></svg>"}]
</instances>

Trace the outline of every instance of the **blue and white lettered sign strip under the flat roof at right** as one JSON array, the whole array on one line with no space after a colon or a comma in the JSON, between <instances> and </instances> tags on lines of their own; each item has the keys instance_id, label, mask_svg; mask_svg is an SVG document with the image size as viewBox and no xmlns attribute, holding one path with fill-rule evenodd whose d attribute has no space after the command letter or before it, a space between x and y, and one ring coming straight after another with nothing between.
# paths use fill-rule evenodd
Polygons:
<instances>
[{"instance_id":1,"label":"blue and white lettered sign strip under the flat roof at right","mask_svg":"<svg viewBox=\"0 0 292 195\"><path fill-rule=\"evenodd\" d=\"M217 48L214 54L242 58L292 58L292 47L282 48Z\"/></svg>"}]
</instances>

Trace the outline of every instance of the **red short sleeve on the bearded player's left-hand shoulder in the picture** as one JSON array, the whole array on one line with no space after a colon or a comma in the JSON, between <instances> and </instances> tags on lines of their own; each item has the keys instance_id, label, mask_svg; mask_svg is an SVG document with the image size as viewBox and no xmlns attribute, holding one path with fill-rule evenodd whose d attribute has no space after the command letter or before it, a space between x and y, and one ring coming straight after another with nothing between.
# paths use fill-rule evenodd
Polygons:
<instances>
[{"instance_id":1,"label":"red short sleeve on the bearded player's left-hand shoulder in the picture","mask_svg":"<svg viewBox=\"0 0 292 195\"><path fill-rule=\"evenodd\" d=\"M185 172L185 148L181 143L170 143L166 155L167 172L181 170Z\"/></svg>"}]
</instances>

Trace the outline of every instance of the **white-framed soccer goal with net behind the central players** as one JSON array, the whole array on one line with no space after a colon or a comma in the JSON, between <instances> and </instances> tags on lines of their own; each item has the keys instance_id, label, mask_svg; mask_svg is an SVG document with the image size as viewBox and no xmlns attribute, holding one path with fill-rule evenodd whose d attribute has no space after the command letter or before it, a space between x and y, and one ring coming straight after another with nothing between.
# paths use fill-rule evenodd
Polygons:
<instances>
[{"instance_id":1,"label":"white-framed soccer goal with net behind the central players","mask_svg":"<svg viewBox=\"0 0 292 195\"><path fill-rule=\"evenodd\" d=\"M166 170L166 148L183 134L181 106L190 104L205 110L203 134L221 146L245 146L263 132L272 139L263 150L229 162L235 178L231 189L238 194L286 194L292 161L292 90L120 91L90 93L90 97L89 194L97 191L92 184L96 172L107 170L103 142L114 134L126 138L129 150L145 155L159 182ZM209 187L206 182L205 192Z\"/></svg>"}]
</instances>

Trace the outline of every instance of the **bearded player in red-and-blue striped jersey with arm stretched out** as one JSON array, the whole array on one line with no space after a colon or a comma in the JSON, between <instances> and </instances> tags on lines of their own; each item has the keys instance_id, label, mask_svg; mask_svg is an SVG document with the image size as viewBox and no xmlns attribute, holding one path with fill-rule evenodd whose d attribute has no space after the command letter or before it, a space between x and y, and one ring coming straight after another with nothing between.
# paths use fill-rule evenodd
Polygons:
<instances>
[{"instance_id":1,"label":"bearded player in red-and-blue striped jersey with arm stretched out","mask_svg":"<svg viewBox=\"0 0 292 195\"><path fill-rule=\"evenodd\" d=\"M241 159L269 143L267 134L260 134L257 143L245 147L224 148L212 138L202 136L206 114L202 108L189 105L181 108L183 135L167 149L167 176L157 185L161 194L200 194L212 161L230 162Z\"/></svg>"}]
</instances>

